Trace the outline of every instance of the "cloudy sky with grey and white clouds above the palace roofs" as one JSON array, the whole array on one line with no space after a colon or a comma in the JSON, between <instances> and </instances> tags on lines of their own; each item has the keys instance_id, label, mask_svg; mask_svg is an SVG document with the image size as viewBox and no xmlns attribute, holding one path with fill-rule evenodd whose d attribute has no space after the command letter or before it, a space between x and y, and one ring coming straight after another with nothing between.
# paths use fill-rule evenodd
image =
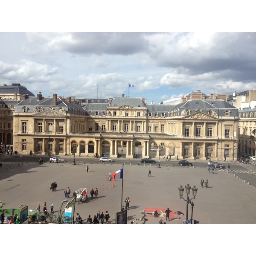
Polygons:
<instances>
[{"instance_id":1,"label":"cloudy sky with grey and white clouds above the palace roofs","mask_svg":"<svg viewBox=\"0 0 256 256\"><path fill-rule=\"evenodd\" d=\"M20 83L43 96L107 99L124 93L148 103L193 90L209 95L256 88L254 32L130 32L133 28L5 29L0 32L0 84Z\"/></svg>"}]
</instances>

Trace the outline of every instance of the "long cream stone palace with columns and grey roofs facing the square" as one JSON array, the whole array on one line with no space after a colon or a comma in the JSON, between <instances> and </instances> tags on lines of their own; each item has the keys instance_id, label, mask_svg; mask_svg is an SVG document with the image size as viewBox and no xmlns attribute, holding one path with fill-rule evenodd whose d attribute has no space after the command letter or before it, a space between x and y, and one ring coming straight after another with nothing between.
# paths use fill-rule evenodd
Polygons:
<instances>
[{"instance_id":1,"label":"long cream stone palace with columns and grey roofs facing the square","mask_svg":"<svg viewBox=\"0 0 256 256\"><path fill-rule=\"evenodd\" d=\"M193 98L193 97L192 97ZM22 154L232 160L238 146L238 109L216 97L177 105L144 98L29 97L14 113L14 147ZM162 151L156 150L160 147Z\"/></svg>"}]
</instances>

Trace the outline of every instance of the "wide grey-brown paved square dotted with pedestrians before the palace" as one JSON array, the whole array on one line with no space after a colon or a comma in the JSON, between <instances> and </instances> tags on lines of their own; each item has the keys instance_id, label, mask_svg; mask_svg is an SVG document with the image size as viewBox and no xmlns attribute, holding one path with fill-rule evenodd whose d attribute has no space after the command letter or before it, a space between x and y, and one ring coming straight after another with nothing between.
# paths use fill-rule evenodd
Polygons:
<instances>
[{"instance_id":1,"label":"wide grey-brown paved square dotted with pedestrians before the palace","mask_svg":"<svg viewBox=\"0 0 256 256\"><path fill-rule=\"evenodd\" d=\"M85 166L89 164L89 172ZM199 224L255 224L256 223L256 189L247 185L231 173L217 170L214 175L206 168L193 168L186 166L161 167L157 165L144 166L124 165L123 196L122 179L114 182L108 180L109 172L113 173L122 168L116 163L89 163L72 165L72 162L38 163L16 166L0 172L0 200L3 208L18 208L20 204L27 205L35 210L38 204L43 206L47 202L50 212L54 205L55 214L64 200L64 189L68 186L73 191L86 187L88 200L84 204L77 204L75 212L79 212L84 220L88 215L92 217L97 211L106 211L110 214L110 224L115 223L116 211L119 211L127 196L131 203L128 210L128 224L134 218L141 218L145 208L167 209L172 212L180 210L184 213L181 218L171 219L166 224L183 224L186 220L186 202L179 197L178 187L185 187L187 183L198 188L194 200L193 219ZM148 171L151 170L151 177ZM201 187L200 180L209 180L209 187ZM56 192L50 190L52 181L56 181ZM103 186L104 185L104 186ZM90 198L90 190L99 189L98 198ZM121 202L122 196L122 202ZM184 191L184 198L186 193ZM192 191L190 193L192 198ZM70 198L71 200L71 198ZM191 217L189 204L188 218ZM158 224L160 218L147 217L146 224ZM162 218L165 221L165 218ZM84 221L85 223L86 221ZM141 224L141 221L137 221Z\"/></svg>"}]
</instances>

